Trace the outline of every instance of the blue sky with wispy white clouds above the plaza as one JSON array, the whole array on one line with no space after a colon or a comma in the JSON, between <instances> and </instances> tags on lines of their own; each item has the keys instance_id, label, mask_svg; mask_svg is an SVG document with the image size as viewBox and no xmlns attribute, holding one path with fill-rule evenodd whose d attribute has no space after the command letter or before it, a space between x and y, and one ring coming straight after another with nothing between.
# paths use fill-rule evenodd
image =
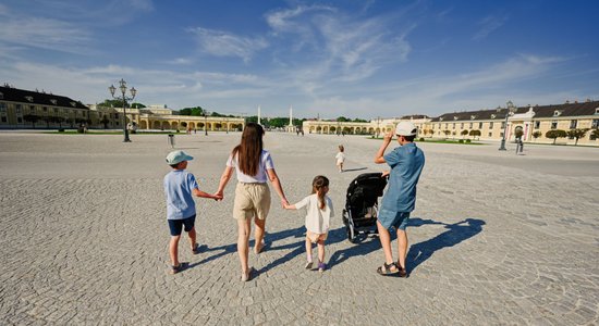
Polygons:
<instances>
[{"instance_id":1,"label":"blue sky with wispy white clouds above the plaza","mask_svg":"<svg viewBox=\"0 0 599 326\"><path fill-rule=\"evenodd\" d=\"M599 100L599 1L0 0L0 83L334 118Z\"/></svg>"}]
</instances>

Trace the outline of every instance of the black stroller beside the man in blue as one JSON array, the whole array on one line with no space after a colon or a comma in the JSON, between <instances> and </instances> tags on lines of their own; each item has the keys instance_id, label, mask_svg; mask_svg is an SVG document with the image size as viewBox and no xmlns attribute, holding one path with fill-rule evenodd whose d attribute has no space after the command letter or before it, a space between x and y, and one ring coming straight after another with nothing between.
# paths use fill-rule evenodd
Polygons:
<instances>
[{"instance_id":1,"label":"black stroller beside the man in blue","mask_svg":"<svg viewBox=\"0 0 599 326\"><path fill-rule=\"evenodd\" d=\"M343 224L350 242L355 242L358 234L378 234L378 198L387 186L387 178L381 176L381 173L364 173L347 187Z\"/></svg>"}]
</instances>

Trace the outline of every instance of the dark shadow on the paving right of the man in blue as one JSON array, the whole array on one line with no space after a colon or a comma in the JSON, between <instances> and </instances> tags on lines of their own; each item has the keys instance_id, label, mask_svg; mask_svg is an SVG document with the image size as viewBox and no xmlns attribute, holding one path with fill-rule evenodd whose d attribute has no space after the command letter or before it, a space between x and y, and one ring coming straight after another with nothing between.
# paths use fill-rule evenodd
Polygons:
<instances>
[{"instance_id":1,"label":"dark shadow on the paving right of the man in blue","mask_svg":"<svg viewBox=\"0 0 599 326\"><path fill-rule=\"evenodd\" d=\"M428 239L423 242L418 242L409 247L407 252L406 268L409 274L412 271L416 269L418 265L428 260L436 251L443 248L453 247L468 238L472 238L482 231L482 225L485 221L478 218L466 218L453 224L447 224L442 222L436 222L432 220L421 220L418 217L409 218L409 226L418 227L423 225L444 225L448 229L447 231L436 236L435 238Z\"/></svg>"}]
</instances>

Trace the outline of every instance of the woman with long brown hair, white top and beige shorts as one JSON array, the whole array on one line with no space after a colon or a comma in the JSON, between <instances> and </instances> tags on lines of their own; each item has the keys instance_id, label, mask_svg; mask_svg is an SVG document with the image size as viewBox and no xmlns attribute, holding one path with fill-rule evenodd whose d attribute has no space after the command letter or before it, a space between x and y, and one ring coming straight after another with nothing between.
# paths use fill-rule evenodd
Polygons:
<instances>
[{"instance_id":1,"label":"woman with long brown hair, white top and beige shorts","mask_svg":"<svg viewBox=\"0 0 599 326\"><path fill-rule=\"evenodd\" d=\"M227 166L220 177L219 188L215 193L222 198L224 187L231 179L234 168L239 183L235 188L233 217L237 220L237 253L242 265L242 280L252 278L252 268L247 261L253 217L256 225L254 252L260 253L265 246L266 217L270 210L270 189L267 180L270 180L281 198L281 204L289 205L279 176L274 171L270 152L262 148L264 134L262 126L259 124L247 123L245 125L242 140L229 155Z\"/></svg>"}]
</instances>

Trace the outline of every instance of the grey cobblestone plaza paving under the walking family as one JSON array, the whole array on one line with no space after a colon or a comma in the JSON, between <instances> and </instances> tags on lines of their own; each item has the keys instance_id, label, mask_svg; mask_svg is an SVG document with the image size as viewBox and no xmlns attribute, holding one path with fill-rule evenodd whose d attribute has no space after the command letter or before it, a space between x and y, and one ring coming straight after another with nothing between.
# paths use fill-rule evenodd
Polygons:
<instances>
[{"instance_id":1,"label":"grey cobblestone plaza paving under the walking family","mask_svg":"<svg viewBox=\"0 0 599 326\"><path fill-rule=\"evenodd\" d=\"M213 192L240 133L175 136ZM0 324L596 325L599 150L419 142L427 162L408 227L408 278L376 273L376 238L350 243L345 190L380 140L268 133L290 202L331 180L330 269L304 269L304 215L273 195L267 248L240 280L234 186L196 200L204 251L168 275L166 135L0 133ZM334 165L343 143L347 172ZM396 145L393 141L392 146ZM512 147L510 147L512 146ZM234 183L232 183L234 184ZM393 242L395 250L395 241Z\"/></svg>"}]
</instances>

